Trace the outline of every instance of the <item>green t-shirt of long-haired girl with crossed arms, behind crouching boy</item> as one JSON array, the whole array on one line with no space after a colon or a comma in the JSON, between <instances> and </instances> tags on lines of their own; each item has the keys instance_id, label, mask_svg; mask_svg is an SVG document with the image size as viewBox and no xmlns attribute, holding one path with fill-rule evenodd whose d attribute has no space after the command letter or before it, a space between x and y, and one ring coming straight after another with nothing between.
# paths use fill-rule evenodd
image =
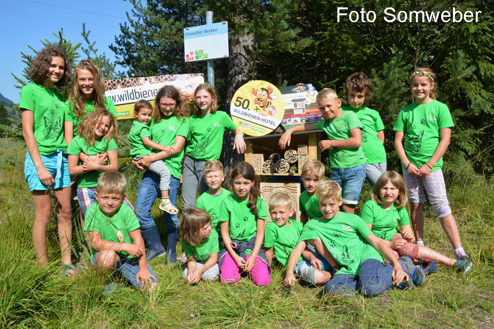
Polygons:
<instances>
[{"instance_id":1,"label":"green t-shirt of long-haired girl with crossed arms, behind crouching boy","mask_svg":"<svg viewBox=\"0 0 494 329\"><path fill-rule=\"evenodd\" d=\"M117 149L117 143L115 143L113 138L110 138L110 140L107 141L106 138L103 137L99 141L94 142L93 145L88 146L82 136L76 136L72 142L70 142L70 145L67 148L67 153L71 155L79 155L83 152L90 156L98 153L105 153L106 151L113 151L115 149ZM110 162L107 161L106 164L109 163ZM79 160L79 165L82 165L81 160ZM98 178L101 174L103 174L103 172L91 170L90 172L79 175L77 187L96 187L98 185Z\"/></svg>"}]
</instances>

